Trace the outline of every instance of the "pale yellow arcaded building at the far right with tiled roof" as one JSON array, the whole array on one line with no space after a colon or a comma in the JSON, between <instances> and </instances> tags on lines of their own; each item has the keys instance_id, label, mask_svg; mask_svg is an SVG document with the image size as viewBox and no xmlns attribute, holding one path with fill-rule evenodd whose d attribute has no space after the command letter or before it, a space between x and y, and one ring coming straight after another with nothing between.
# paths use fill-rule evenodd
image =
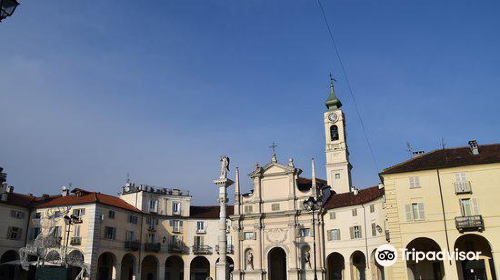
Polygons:
<instances>
[{"instance_id":1,"label":"pale yellow arcaded building at the far right with tiled roof","mask_svg":"<svg viewBox=\"0 0 500 280\"><path fill-rule=\"evenodd\" d=\"M500 144L440 149L380 173L396 249L481 251L478 261L398 262L391 279L498 279Z\"/></svg>"}]
</instances>

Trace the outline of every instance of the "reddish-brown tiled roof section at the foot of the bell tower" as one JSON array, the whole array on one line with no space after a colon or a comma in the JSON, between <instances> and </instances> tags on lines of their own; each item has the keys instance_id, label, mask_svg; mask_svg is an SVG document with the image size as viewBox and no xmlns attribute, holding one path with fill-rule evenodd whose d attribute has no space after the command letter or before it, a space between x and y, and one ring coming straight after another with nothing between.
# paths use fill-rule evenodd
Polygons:
<instances>
[{"instance_id":1,"label":"reddish-brown tiled roof section at the foot of the bell tower","mask_svg":"<svg viewBox=\"0 0 500 280\"><path fill-rule=\"evenodd\" d=\"M357 195L352 192L332 194L325 202L325 209L340 208L352 205L368 203L384 195L384 189L378 186L361 189Z\"/></svg>"}]
</instances>

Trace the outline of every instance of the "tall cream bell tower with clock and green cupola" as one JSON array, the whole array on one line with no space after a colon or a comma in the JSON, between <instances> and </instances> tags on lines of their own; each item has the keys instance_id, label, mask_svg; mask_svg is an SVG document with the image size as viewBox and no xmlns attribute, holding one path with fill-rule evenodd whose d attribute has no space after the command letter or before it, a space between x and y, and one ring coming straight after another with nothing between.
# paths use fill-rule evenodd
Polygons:
<instances>
[{"instance_id":1,"label":"tall cream bell tower with clock and green cupola","mask_svg":"<svg viewBox=\"0 0 500 280\"><path fill-rule=\"evenodd\" d=\"M325 102L327 110L323 114L325 123L326 178L328 185L336 193L351 190L351 169L347 149L344 112L342 102L337 98L330 74L330 95Z\"/></svg>"}]
</instances>

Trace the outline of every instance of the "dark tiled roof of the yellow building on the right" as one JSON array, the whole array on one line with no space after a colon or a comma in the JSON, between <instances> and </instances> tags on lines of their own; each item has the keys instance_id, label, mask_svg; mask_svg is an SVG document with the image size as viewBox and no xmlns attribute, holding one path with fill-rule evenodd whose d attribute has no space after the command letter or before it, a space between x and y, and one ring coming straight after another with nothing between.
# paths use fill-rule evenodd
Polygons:
<instances>
[{"instance_id":1,"label":"dark tiled roof of the yellow building on the right","mask_svg":"<svg viewBox=\"0 0 500 280\"><path fill-rule=\"evenodd\" d=\"M394 174L498 162L500 162L500 144L479 145L479 155L473 155L467 146L434 150L386 168L380 174Z\"/></svg>"}]
</instances>

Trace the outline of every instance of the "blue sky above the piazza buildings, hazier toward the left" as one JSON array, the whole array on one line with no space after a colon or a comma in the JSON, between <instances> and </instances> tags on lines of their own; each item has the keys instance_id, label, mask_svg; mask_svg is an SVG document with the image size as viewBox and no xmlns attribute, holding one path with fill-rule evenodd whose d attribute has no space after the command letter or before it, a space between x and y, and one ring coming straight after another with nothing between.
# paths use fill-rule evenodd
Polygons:
<instances>
[{"instance_id":1,"label":"blue sky above the piazza buildings, hazier toward the left","mask_svg":"<svg viewBox=\"0 0 500 280\"><path fill-rule=\"evenodd\" d=\"M322 113L338 79L354 184L378 183L316 1L23 0L0 23L0 166L19 192L138 183L215 204L218 157L289 157L324 177ZM500 139L500 2L331 1L379 168ZM234 171L232 169L231 171ZM234 176L234 173L231 173Z\"/></svg>"}]
</instances>

